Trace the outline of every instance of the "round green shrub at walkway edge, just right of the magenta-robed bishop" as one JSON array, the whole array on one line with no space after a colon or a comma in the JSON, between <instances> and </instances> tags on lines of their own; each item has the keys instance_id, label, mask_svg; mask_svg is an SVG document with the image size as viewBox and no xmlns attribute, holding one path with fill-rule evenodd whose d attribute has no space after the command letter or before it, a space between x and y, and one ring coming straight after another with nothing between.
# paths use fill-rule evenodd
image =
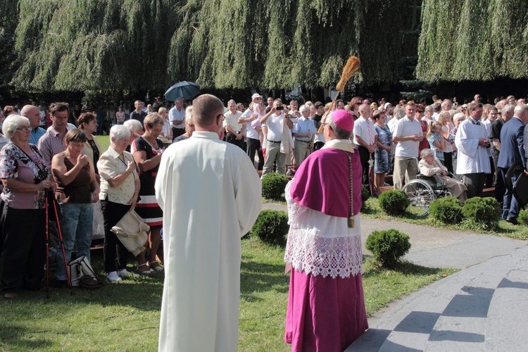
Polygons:
<instances>
[{"instance_id":1,"label":"round green shrub at walkway edge, just right of the magenta-robed bishop","mask_svg":"<svg viewBox=\"0 0 528 352\"><path fill-rule=\"evenodd\" d=\"M367 238L367 249L384 268L394 268L410 249L408 235L395 229L374 231Z\"/></svg>"}]
</instances>

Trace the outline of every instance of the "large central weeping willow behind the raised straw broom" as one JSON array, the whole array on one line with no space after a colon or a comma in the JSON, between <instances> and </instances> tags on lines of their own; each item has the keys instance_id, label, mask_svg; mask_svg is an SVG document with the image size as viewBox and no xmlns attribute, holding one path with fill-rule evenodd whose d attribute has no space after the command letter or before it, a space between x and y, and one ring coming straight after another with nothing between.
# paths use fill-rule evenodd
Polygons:
<instances>
[{"instance_id":1,"label":"large central weeping willow behind the raised straw broom","mask_svg":"<svg viewBox=\"0 0 528 352\"><path fill-rule=\"evenodd\" d=\"M401 36L410 1L194 0L179 13L168 75L204 87L335 84L346 58L356 81L394 82L403 71Z\"/></svg>"}]
</instances>

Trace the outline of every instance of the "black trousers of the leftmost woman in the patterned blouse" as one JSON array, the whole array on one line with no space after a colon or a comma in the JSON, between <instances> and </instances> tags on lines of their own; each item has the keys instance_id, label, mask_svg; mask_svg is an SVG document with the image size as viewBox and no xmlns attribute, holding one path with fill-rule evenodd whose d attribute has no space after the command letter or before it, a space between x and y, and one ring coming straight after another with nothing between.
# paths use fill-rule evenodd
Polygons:
<instances>
[{"instance_id":1,"label":"black trousers of the leftmost woman in the patterned blouse","mask_svg":"<svg viewBox=\"0 0 528 352\"><path fill-rule=\"evenodd\" d=\"M5 205L0 227L0 292L40 289L46 263L45 210Z\"/></svg>"}]
</instances>

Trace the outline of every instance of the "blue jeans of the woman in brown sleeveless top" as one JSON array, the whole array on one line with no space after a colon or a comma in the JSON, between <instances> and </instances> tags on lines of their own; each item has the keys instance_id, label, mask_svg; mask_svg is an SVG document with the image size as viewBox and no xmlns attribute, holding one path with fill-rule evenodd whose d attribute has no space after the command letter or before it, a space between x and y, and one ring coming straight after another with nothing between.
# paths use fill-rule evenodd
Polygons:
<instances>
[{"instance_id":1,"label":"blue jeans of the woman in brown sleeveless top","mask_svg":"<svg viewBox=\"0 0 528 352\"><path fill-rule=\"evenodd\" d=\"M77 245L77 257L86 256L90 260L94 208L92 203L59 203L63 218L60 221L63 235L66 263L70 263L73 247ZM62 249L57 251L57 279L65 280L66 268Z\"/></svg>"}]
</instances>

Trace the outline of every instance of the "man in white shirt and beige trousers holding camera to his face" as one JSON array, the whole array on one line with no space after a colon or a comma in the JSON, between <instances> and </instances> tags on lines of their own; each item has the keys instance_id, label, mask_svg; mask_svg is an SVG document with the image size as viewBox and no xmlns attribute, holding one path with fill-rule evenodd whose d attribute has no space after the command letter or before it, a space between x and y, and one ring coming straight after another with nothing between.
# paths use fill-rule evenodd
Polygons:
<instances>
[{"instance_id":1,"label":"man in white shirt and beige trousers holding camera to his face","mask_svg":"<svg viewBox=\"0 0 528 352\"><path fill-rule=\"evenodd\" d=\"M286 153L284 153L284 145L289 143L289 132L284 130L284 125L289 130L294 128L294 124L290 120L290 115L284 115L284 106L282 106L281 99L273 101L273 107L270 112L260 118L260 123L268 127L268 148L266 149L266 159L262 176L271 172L273 163L277 161L277 172L284 175L284 168L286 165ZM286 148L288 149L288 148Z\"/></svg>"}]
</instances>

